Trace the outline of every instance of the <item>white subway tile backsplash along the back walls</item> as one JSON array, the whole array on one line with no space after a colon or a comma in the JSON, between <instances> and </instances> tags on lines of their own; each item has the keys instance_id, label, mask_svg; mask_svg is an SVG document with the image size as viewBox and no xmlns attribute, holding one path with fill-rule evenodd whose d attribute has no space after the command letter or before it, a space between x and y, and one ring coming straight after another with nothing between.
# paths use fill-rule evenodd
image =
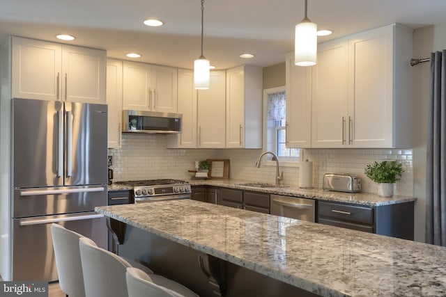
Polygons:
<instances>
[{"instance_id":1,"label":"white subway tile backsplash along the back walls","mask_svg":"<svg viewBox=\"0 0 446 297\"><path fill-rule=\"evenodd\" d=\"M114 181L136 179L189 179L187 170L201 159L230 159L229 177L254 182L275 182L275 166L254 166L262 150L167 149L164 135L123 134L121 149L109 149L113 158ZM349 172L360 176L362 191L375 193L376 186L364 175L364 168L374 161L400 160L403 177L396 184L399 195L413 195L412 150L395 149L307 149L304 159L313 161L313 182L321 188L327 172ZM283 184L299 185L299 168L281 166Z\"/></svg>"}]
</instances>

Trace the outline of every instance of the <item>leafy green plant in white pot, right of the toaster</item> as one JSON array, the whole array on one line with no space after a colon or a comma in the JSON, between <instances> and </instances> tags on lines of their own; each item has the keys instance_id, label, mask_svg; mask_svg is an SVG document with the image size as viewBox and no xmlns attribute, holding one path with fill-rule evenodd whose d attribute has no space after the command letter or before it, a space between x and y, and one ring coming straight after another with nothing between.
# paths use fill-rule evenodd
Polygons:
<instances>
[{"instance_id":1,"label":"leafy green plant in white pot, right of the toaster","mask_svg":"<svg viewBox=\"0 0 446 297\"><path fill-rule=\"evenodd\" d=\"M393 196L393 184L401 179L403 165L397 161L374 162L367 165L365 175L373 182L378 183L378 195L381 197Z\"/></svg>"}]
</instances>

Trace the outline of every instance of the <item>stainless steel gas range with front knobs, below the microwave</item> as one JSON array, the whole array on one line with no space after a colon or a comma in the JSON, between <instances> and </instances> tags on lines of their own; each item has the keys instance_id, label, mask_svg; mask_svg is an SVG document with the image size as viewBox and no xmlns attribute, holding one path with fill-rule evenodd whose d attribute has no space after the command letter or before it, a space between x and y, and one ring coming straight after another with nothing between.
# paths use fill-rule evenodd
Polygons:
<instances>
[{"instance_id":1,"label":"stainless steel gas range with front knobs, below the microwave","mask_svg":"<svg viewBox=\"0 0 446 297\"><path fill-rule=\"evenodd\" d=\"M133 187L134 203L191 198L190 184L178 179L148 179L116 184Z\"/></svg>"}]
</instances>

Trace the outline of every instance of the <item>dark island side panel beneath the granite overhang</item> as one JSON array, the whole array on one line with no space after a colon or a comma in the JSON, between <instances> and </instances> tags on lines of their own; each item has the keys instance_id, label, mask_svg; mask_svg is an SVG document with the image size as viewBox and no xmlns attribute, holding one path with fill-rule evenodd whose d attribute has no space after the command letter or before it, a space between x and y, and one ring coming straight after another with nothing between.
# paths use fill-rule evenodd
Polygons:
<instances>
[{"instance_id":1,"label":"dark island side panel beneath the granite overhang","mask_svg":"<svg viewBox=\"0 0 446 297\"><path fill-rule=\"evenodd\" d=\"M140 262L156 274L180 282L199 296L220 296L220 288L201 269L199 257L206 254L197 250L127 225L124 242L118 246L118 255ZM224 271L225 288L222 296L318 296L236 264L212 258L215 262L219 261L218 265Z\"/></svg>"}]
</instances>

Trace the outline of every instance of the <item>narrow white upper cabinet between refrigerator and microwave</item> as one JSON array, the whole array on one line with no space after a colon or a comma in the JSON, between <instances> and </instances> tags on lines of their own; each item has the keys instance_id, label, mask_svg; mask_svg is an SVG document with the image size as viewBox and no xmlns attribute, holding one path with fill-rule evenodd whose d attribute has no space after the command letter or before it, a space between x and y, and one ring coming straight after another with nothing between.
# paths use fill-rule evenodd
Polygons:
<instances>
[{"instance_id":1,"label":"narrow white upper cabinet between refrigerator and microwave","mask_svg":"<svg viewBox=\"0 0 446 297\"><path fill-rule=\"evenodd\" d=\"M121 147L123 61L107 59L108 147Z\"/></svg>"}]
</instances>

